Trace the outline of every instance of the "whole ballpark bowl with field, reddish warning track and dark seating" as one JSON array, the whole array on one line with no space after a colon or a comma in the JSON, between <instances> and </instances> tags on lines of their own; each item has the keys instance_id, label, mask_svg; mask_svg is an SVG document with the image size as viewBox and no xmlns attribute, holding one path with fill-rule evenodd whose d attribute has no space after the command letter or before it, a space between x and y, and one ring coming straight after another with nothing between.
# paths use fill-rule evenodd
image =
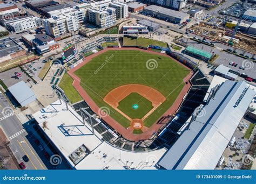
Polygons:
<instances>
[{"instance_id":1,"label":"whole ballpark bowl with field, reddish warning track and dark seating","mask_svg":"<svg viewBox=\"0 0 256 184\"><path fill-rule=\"evenodd\" d=\"M188 58L173 54L122 47L87 56L68 71L78 92L72 95L83 99L73 108L84 109L103 140L124 150L171 146L210 84Z\"/></svg>"}]
</instances>

